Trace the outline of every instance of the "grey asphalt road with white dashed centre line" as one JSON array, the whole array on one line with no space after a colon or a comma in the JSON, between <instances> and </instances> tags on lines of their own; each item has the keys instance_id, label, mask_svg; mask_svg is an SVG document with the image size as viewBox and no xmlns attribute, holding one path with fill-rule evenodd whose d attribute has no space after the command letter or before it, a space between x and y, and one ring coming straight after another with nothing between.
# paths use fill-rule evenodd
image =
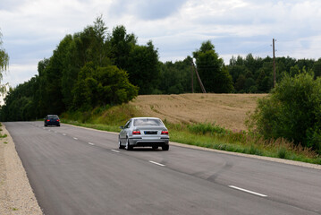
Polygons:
<instances>
[{"instance_id":1,"label":"grey asphalt road with white dashed centre line","mask_svg":"<svg viewBox=\"0 0 321 215\"><path fill-rule=\"evenodd\" d=\"M117 134L4 123L46 215L321 214L321 171L171 146L119 150Z\"/></svg>"}]
</instances>

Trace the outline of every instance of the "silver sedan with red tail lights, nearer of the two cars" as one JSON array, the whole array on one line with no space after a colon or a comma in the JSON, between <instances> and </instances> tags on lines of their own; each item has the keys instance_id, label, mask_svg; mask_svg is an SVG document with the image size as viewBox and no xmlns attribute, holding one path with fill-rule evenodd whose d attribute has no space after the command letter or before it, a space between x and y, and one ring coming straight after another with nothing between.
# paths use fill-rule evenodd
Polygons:
<instances>
[{"instance_id":1,"label":"silver sedan with red tail lights, nearer of the two cars","mask_svg":"<svg viewBox=\"0 0 321 215\"><path fill-rule=\"evenodd\" d=\"M133 147L162 147L169 150L168 130L161 119L156 117L131 118L125 126L121 126L118 144L119 149L132 150Z\"/></svg>"}]
</instances>

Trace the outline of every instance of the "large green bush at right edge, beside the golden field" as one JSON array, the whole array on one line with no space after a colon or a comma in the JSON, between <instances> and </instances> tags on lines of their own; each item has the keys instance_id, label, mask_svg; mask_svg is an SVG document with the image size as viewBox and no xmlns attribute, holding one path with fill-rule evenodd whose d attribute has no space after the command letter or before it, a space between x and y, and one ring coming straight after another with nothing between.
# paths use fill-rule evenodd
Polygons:
<instances>
[{"instance_id":1,"label":"large green bush at right edge, beside the golden field","mask_svg":"<svg viewBox=\"0 0 321 215\"><path fill-rule=\"evenodd\" d=\"M321 78L302 72L283 76L249 116L249 130L266 139L283 137L321 154Z\"/></svg>"}]
</instances>

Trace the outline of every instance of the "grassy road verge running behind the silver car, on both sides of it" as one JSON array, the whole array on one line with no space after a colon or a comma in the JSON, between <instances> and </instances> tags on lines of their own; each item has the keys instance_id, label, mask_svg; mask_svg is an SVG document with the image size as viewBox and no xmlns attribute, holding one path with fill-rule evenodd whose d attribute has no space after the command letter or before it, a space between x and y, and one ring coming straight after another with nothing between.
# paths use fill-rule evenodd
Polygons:
<instances>
[{"instance_id":1,"label":"grassy road verge running behind the silver car, on both sides of it","mask_svg":"<svg viewBox=\"0 0 321 215\"><path fill-rule=\"evenodd\" d=\"M96 108L90 112L64 113L62 122L117 133L120 131L119 126L124 125L133 116L143 115L135 107L126 104L119 107ZM283 139L266 141L251 133L228 130L215 124L171 124L166 119L163 120L173 142L321 164L320 155L313 150L295 146Z\"/></svg>"}]
</instances>

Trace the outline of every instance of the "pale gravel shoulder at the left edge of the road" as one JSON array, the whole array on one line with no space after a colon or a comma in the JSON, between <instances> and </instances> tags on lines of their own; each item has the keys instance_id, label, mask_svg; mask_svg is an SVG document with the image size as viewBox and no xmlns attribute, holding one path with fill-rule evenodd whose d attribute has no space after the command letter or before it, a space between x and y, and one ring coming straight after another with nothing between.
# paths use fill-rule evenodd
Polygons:
<instances>
[{"instance_id":1,"label":"pale gravel shoulder at the left edge of the road","mask_svg":"<svg viewBox=\"0 0 321 215\"><path fill-rule=\"evenodd\" d=\"M0 214L43 214L29 183L10 133L1 126L0 138Z\"/></svg>"}]
</instances>

